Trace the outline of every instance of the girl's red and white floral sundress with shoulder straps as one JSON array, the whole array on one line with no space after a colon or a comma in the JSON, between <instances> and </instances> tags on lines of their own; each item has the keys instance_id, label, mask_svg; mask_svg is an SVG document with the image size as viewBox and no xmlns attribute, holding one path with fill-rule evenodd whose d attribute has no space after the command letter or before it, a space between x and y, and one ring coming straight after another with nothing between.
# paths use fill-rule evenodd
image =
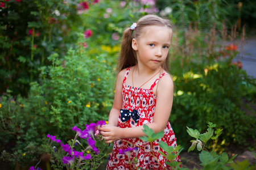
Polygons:
<instances>
[{"instance_id":1,"label":"girl's red and white floral sundress with shoulder straps","mask_svg":"<svg viewBox=\"0 0 256 170\"><path fill-rule=\"evenodd\" d=\"M163 73L160 75L158 79L155 80L154 84L152 84L150 89L138 88L127 86L126 79L129 74L130 67L127 68L125 73L125 78L123 79L123 106L122 109L127 109L129 111L133 111L133 109L137 110L139 113L139 121L135 123L133 118L130 118L126 122L122 122L119 116L118 118L118 127L120 128L132 128L135 126L143 126L143 124L149 124L153 122L153 117L155 113L155 104L156 104L156 96L153 94L153 88L159 82L159 79L164 75L168 75ZM127 142L126 142L127 141ZM143 142L139 138L128 138L122 139L114 142L112 154L110 156L110 160L108 162L106 169L135 169L133 158L137 157L136 167L141 167L144 169L171 169L170 166L165 164L166 159L163 155L159 153L159 151L164 152L162 148L159 147L159 141L163 141L168 144L168 146L176 146L176 138L174 131L170 125L170 122L167 122L166 128L164 129L164 137L152 142L152 148L150 142ZM133 145L134 144L134 145ZM124 154L119 154L119 150L125 150L127 147L138 147L138 150L130 151L129 157ZM150 153L151 152L151 153ZM158 162L164 166L164 168L159 165L158 162L151 155L154 152L156 158L158 158ZM129 164L129 159L131 161L131 168ZM180 162L180 158L176 158L177 162Z\"/></svg>"}]
</instances>

